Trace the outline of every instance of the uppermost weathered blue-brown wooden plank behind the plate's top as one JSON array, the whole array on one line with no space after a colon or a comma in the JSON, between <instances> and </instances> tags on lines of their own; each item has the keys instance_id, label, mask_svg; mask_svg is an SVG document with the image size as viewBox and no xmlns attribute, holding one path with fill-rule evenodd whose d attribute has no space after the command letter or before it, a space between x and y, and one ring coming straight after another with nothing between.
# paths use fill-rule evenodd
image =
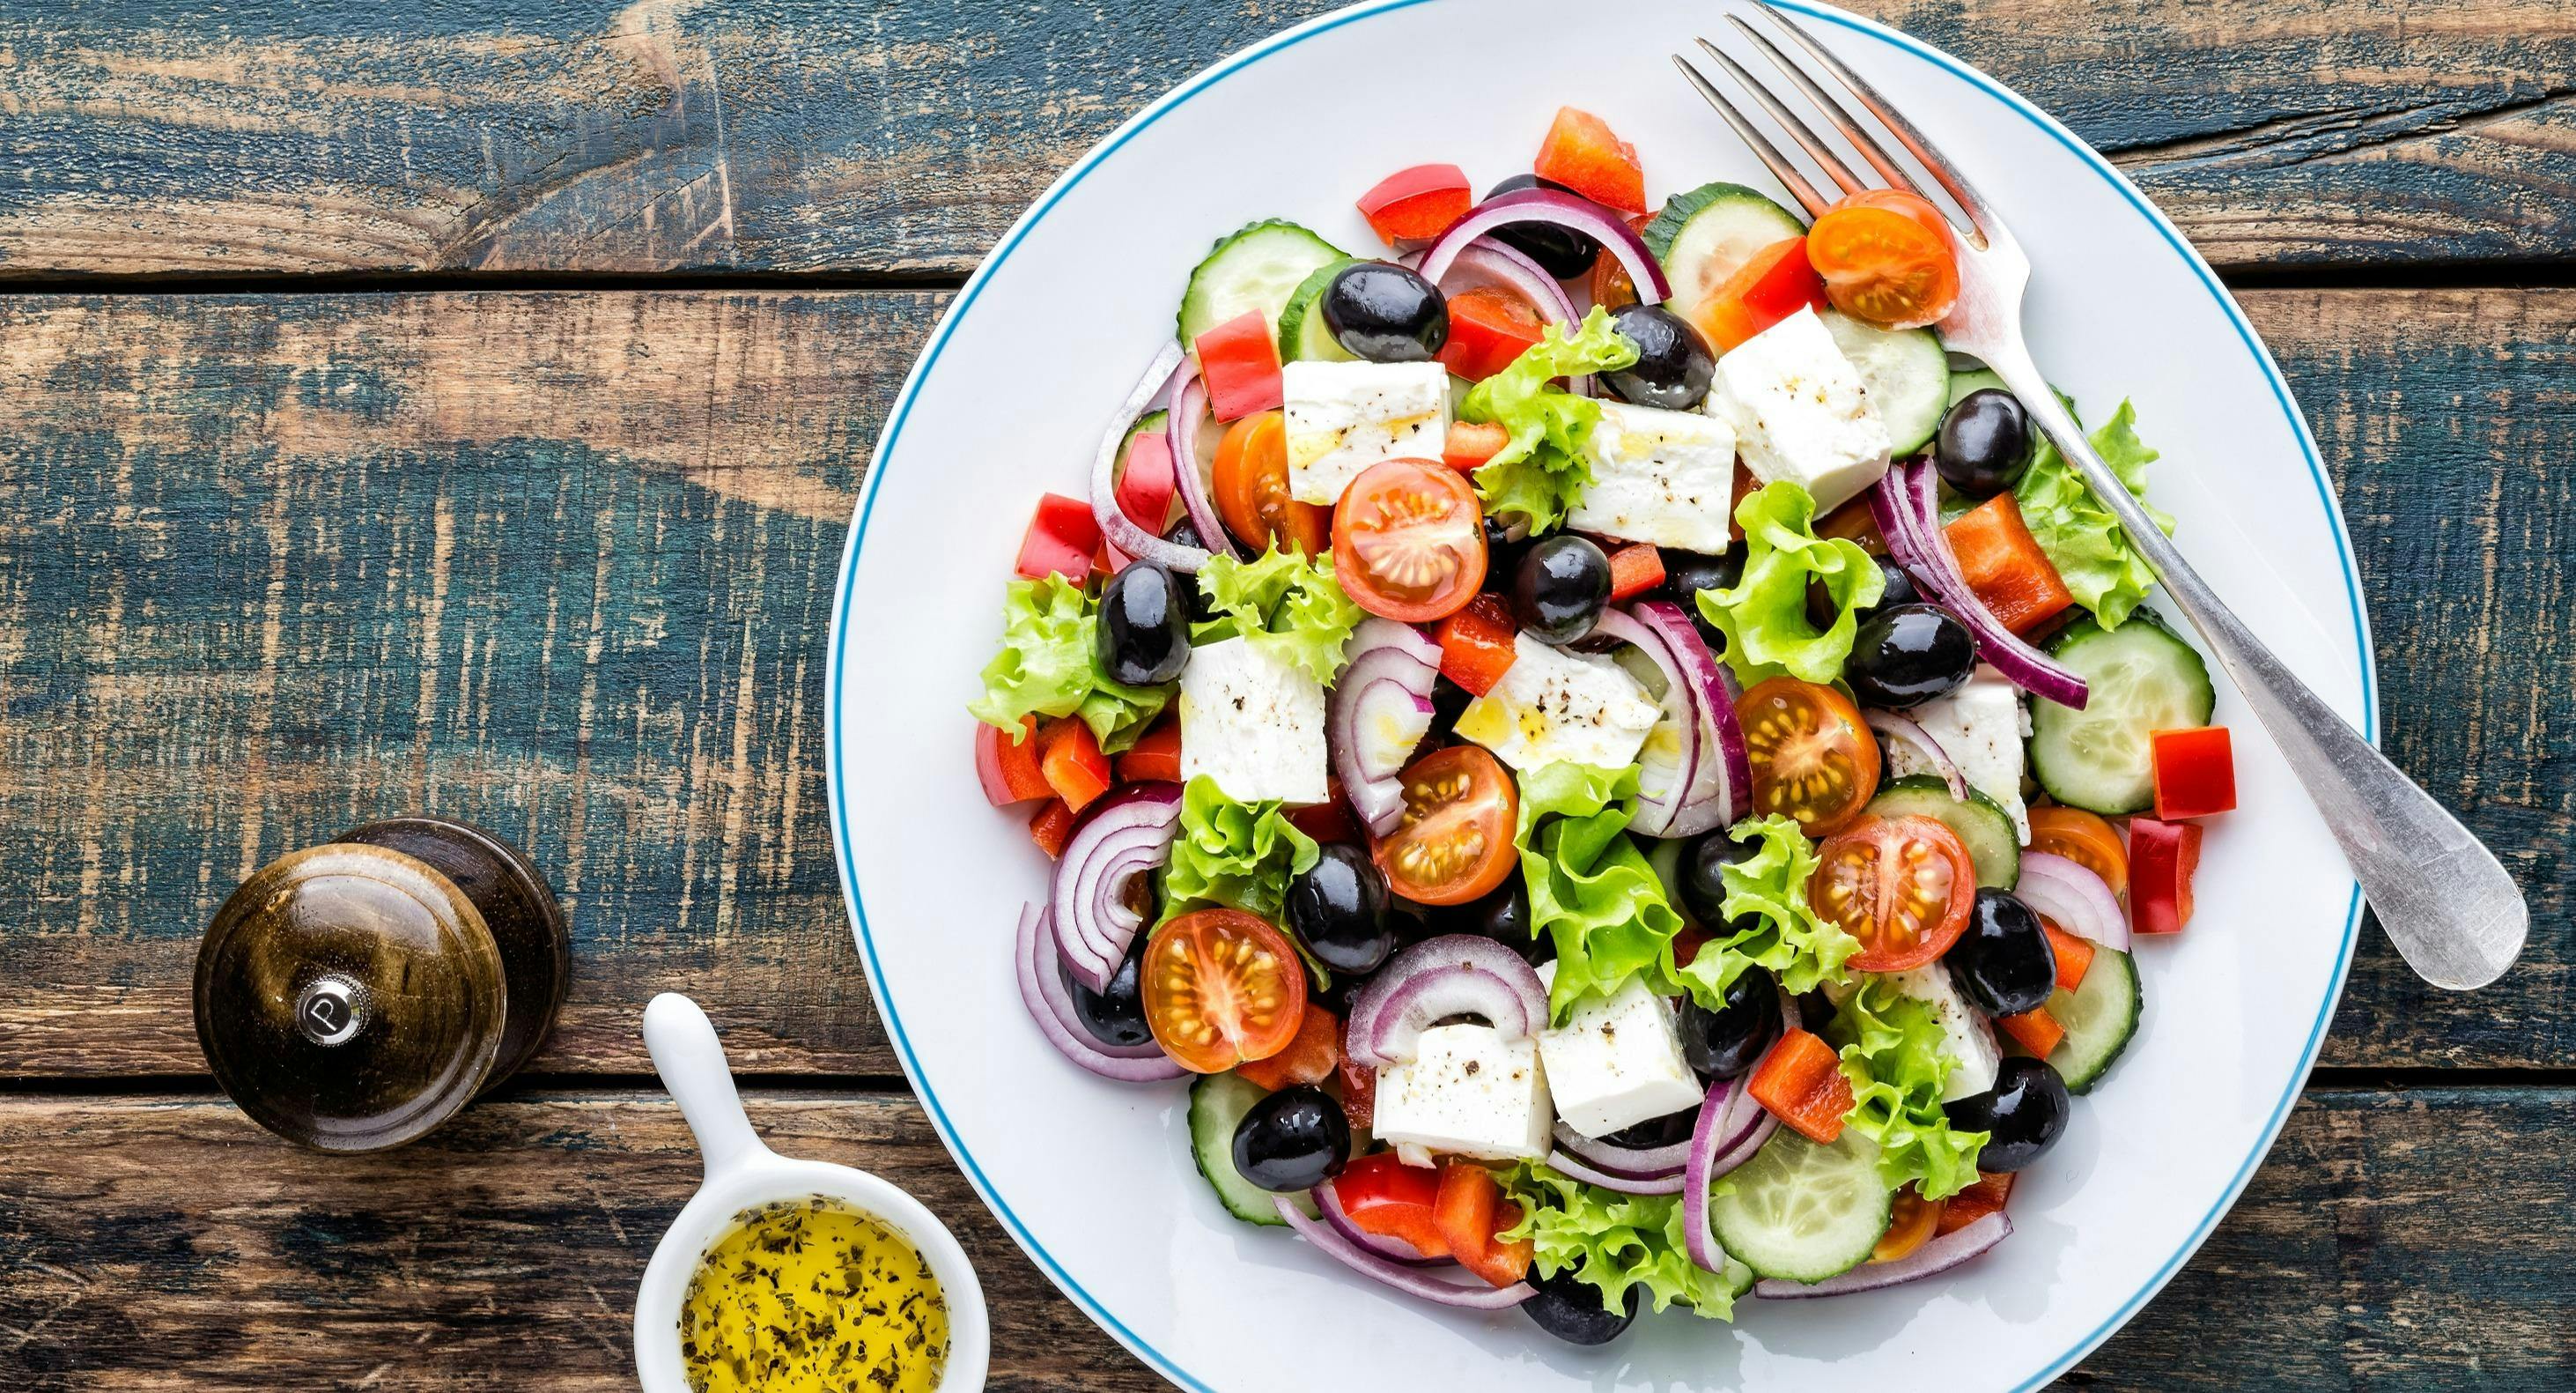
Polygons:
<instances>
[{"instance_id":1,"label":"uppermost weathered blue-brown wooden plank behind the plate's top","mask_svg":"<svg viewBox=\"0 0 2576 1393\"><path fill-rule=\"evenodd\" d=\"M1123 116L1329 8L0 10L0 276L956 276ZM2058 113L2221 265L2576 250L2576 10L2555 0L1860 8Z\"/></svg>"}]
</instances>

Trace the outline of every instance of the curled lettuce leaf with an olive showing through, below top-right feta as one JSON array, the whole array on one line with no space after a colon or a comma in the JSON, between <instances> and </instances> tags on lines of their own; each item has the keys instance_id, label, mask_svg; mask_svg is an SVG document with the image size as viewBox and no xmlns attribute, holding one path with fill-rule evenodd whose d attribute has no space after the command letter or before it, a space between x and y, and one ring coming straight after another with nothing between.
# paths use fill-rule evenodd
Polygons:
<instances>
[{"instance_id":1,"label":"curled lettuce leaf with an olive showing through, below top-right feta","mask_svg":"<svg viewBox=\"0 0 2576 1393\"><path fill-rule=\"evenodd\" d=\"M1852 657L1855 610L1878 603L1888 577L1857 541L1816 536L1816 500L1798 484L1765 484L1736 505L1744 525L1744 577L1734 590L1703 590L1700 615L1726 636L1726 664L1744 685L1788 672L1832 682ZM1834 597L1834 623L1806 618L1806 582Z\"/></svg>"}]
</instances>

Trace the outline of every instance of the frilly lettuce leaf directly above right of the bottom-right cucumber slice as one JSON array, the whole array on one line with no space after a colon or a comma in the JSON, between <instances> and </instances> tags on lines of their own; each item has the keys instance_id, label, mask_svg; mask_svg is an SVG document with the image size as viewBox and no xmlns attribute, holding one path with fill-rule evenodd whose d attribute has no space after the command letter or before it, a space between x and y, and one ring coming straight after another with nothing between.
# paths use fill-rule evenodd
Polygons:
<instances>
[{"instance_id":1,"label":"frilly lettuce leaf directly above right of the bottom-right cucumber slice","mask_svg":"<svg viewBox=\"0 0 2576 1393\"><path fill-rule=\"evenodd\" d=\"M1940 1110L1955 1061L1942 1051L1932 1007L1888 978L1862 978L1824 1038L1842 1051L1842 1076L1852 1081L1844 1125L1878 1143L1878 1174L1891 1190L1914 1182L1924 1200L1947 1200L1976 1184L1986 1133L1955 1133Z\"/></svg>"}]
</instances>

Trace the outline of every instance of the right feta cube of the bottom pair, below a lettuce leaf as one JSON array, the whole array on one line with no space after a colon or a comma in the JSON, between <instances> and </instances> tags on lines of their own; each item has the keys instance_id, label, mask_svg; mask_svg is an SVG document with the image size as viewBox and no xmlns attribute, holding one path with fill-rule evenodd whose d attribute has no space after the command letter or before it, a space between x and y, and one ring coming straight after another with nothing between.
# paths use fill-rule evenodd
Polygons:
<instances>
[{"instance_id":1,"label":"right feta cube of the bottom pair, below a lettuce leaf","mask_svg":"<svg viewBox=\"0 0 2576 1393\"><path fill-rule=\"evenodd\" d=\"M1556 986L1556 963L1538 968ZM1538 1033L1556 1115L1584 1136L1610 1136L1649 1117L1698 1107L1705 1089L1682 1058L1672 1002L1628 978L1607 996L1584 996L1564 1025Z\"/></svg>"}]
</instances>

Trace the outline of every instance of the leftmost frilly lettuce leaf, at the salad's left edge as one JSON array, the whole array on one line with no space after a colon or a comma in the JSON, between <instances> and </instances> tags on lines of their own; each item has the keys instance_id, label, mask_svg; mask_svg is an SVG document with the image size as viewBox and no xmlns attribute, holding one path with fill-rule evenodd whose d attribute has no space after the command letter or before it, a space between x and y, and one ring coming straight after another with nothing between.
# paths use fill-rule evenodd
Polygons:
<instances>
[{"instance_id":1,"label":"leftmost frilly lettuce leaf, at the salad's left edge","mask_svg":"<svg viewBox=\"0 0 2576 1393\"><path fill-rule=\"evenodd\" d=\"M1092 600L1061 574L1015 579L1002 595L1002 651L984 664L976 721L1020 736L1025 716L1082 716L1100 749L1118 754L1162 716L1172 687L1121 687L1100 675Z\"/></svg>"}]
</instances>

